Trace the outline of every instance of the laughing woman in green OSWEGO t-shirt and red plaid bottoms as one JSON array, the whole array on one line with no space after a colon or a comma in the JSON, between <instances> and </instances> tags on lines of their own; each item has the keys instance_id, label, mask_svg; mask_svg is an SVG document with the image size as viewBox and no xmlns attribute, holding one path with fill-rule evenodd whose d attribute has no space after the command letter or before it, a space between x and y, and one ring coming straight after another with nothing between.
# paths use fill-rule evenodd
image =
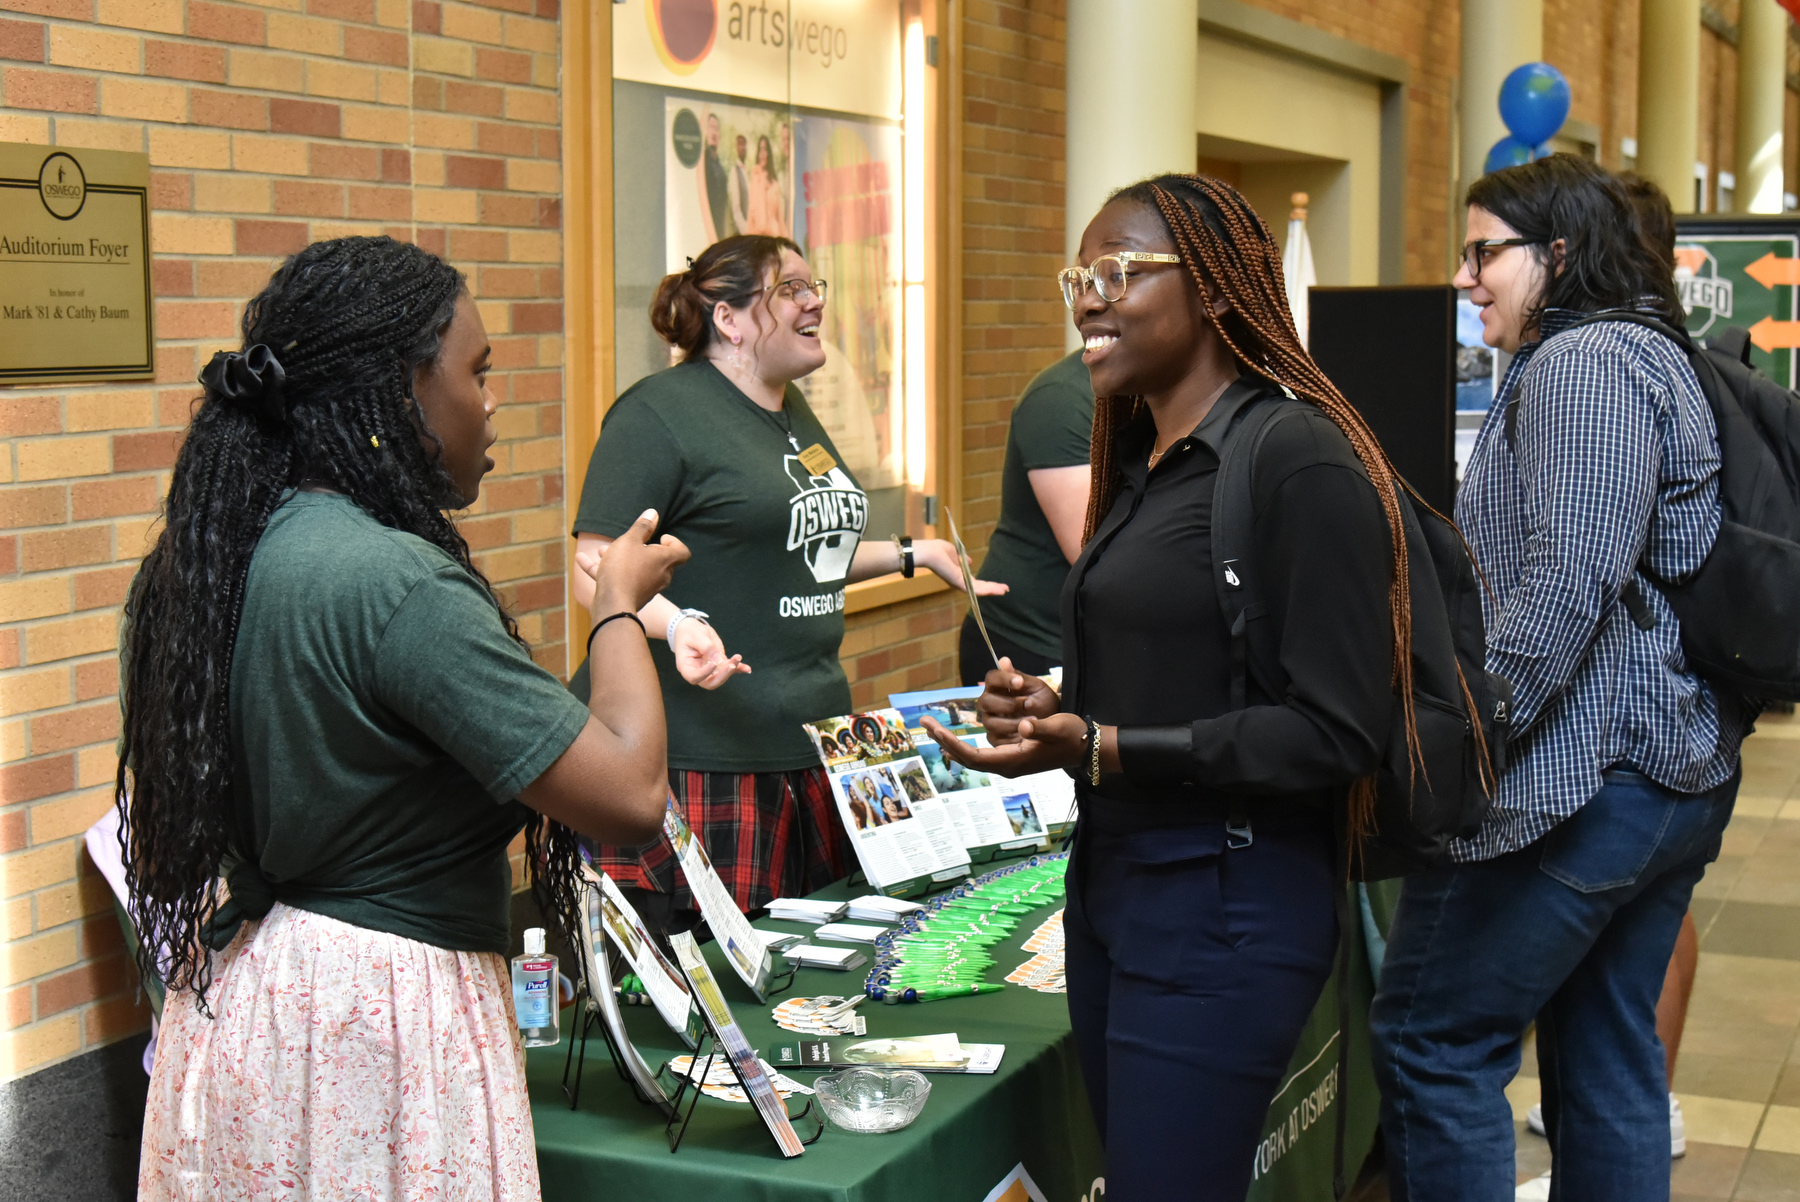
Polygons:
<instances>
[{"instance_id":1,"label":"laughing woman in green OSWEGO t-shirt and red plaid bottoms","mask_svg":"<svg viewBox=\"0 0 1800 1202\"><path fill-rule=\"evenodd\" d=\"M752 234L664 277L650 324L680 363L607 412L574 522L578 556L605 554L644 509L693 551L639 615L668 707L670 786L745 910L850 871L801 729L850 713L844 585L914 567L963 585L943 540L862 542L868 497L794 387L824 365L824 288L797 245ZM587 689L585 669L569 687ZM666 842L601 846L598 862L652 927L698 921Z\"/></svg>"}]
</instances>

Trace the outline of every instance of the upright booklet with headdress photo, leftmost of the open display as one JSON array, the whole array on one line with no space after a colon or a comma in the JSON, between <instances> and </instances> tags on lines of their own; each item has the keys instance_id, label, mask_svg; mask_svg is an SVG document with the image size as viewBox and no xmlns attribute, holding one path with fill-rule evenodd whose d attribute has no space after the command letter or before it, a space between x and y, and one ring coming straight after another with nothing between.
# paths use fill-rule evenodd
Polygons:
<instances>
[{"instance_id":1,"label":"upright booklet with headdress photo, leftmost of the open display","mask_svg":"<svg viewBox=\"0 0 1800 1202\"><path fill-rule=\"evenodd\" d=\"M950 808L896 711L821 718L806 723L806 734L871 887L909 896L968 876Z\"/></svg>"}]
</instances>

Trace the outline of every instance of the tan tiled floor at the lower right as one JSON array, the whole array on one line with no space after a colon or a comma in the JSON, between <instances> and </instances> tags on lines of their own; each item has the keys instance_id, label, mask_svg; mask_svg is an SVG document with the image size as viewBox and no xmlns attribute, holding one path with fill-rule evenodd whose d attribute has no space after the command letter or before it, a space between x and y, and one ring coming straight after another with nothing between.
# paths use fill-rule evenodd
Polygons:
<instances>
[{"instance_id":1,"label":"tan tiled floor at the lower right","mask_svg":"<svg viewBox=\"0 0 1800 1202\"><path fill-rule=\"evenodd\" d=\"M1766 716L1744 745L1744 783L1719 862L1694 891L1699 975L1676 1096L1688 1153L1674 1202L1800 1202L1800 720ZM1525 1130L1537 1056L1507 1089L1519 1180L1550 1168Z\"/></svg>"}]
</instances>

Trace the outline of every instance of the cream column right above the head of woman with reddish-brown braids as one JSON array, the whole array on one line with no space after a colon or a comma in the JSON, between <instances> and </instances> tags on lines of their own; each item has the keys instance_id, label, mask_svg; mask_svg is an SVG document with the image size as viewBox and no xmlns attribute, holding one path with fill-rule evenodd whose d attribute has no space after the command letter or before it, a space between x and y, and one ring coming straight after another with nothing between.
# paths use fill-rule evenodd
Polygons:
<instances>
[{"instance_id":1,"label":"cream column right above the head of woman with reddish-brown braids","mask_svg":"<svg viewBox=\"0 0 1800 1202\"><path fill-rule=\"evenodd\" d=\"M1107 194L1193 171L1201 29L1193 0L1069 0L1066 252Z\"/></svg>"}]
</instances>

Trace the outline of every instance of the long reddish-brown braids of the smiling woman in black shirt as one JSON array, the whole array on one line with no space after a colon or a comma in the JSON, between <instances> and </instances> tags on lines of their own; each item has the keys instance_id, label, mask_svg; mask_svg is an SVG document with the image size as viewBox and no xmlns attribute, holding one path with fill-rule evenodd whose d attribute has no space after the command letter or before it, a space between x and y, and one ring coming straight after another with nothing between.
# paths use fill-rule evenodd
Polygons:
<instances>
[{"instance_id":1,"label":"long reddish-brown braids of the smiling woman in black shirt","mask_svg":"<svg viewBox=\"0 0 1800 1202\"><path fill-rule=\"evenodd\" d=\"M1201 295L1206 295L1210 281L1231 302L1224 317L1211 320L1237 356L1238 367L1316 405L1350 439L1350 448L1368 471L1393 538L1393 583L1388 587L1388 608L1393 619L1393 687L1404 707L1408 747L1418 756L1413 722L1413 603L1406 570L1406 518L1400 509L1400 489L1406 482L1393 470L1375 432L1300 344L1300 331L1294 329L1294 317L1287 308L1282 248L1235 187L1206 175L1163 175L1143 180L1120 189L1107 203L1120 200L1161 214ZM1138 396L1094 398L1094 434L1089 452L1093 491L1082 542L1094 536L1100 520L1118 498L1123 477L1114 461L1114 439L1141 405L1143 398ZM1370 830L1373 804L1375 781L1363 777L1350 790L1352 835Z\"/></svg>"}]
</instances>

